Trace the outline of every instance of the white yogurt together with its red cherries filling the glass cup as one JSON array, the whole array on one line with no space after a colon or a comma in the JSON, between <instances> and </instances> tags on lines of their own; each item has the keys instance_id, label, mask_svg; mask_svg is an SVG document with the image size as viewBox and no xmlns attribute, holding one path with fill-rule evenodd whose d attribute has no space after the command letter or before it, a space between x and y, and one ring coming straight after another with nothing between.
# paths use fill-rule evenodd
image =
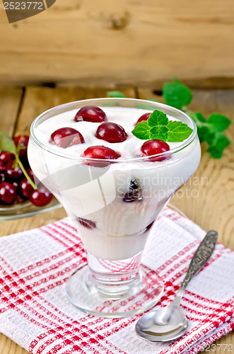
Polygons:
<instances>
[{"instance_id":1,"label":"white yogurt together with its red cherries filling the glass cup","mask_svg":"<svg viewBox=\"0 0 234 354\"><path fill-rule=\"evenodd\" d=\"M131 131L151 110L99 106L96 118L95 109L88 118L83 111L68 110L35 127L40 146L30 139L30 165L74 219L86 251L107 260L131 258L144 249L170 197L197 170L199 140L186 146L186 140L136 138Z\"/></svg>"}]
</instances>

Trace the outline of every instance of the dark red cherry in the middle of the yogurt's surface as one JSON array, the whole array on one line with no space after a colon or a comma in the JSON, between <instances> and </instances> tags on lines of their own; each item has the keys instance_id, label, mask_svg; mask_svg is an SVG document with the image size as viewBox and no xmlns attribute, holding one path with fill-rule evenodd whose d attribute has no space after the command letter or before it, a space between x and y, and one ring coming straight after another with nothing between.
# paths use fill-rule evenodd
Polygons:
<instances>
[{"instance_id":1,"label":"dark red cherry in the middle of the yogurt's surface","mask_svg":"<svg viewBox=\"0 0 234 354\"><path fill-rule=\"evenodd\" d=\"M106 142L124 142L127 139L127 132L119 124L104 122L99 125L95 137Z\"/></svg>"}]
</instances>

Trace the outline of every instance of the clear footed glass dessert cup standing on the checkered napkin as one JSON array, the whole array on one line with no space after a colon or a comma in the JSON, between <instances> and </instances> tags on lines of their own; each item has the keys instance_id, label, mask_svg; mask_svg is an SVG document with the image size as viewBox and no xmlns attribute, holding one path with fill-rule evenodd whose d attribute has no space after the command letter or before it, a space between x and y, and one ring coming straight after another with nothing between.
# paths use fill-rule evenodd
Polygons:
<instances>
[{"instance_id":1,"label":"clear footed glass dessert cup standing on the checkered napkin","mask_svg":"<svg viewBox=\"0 0 234 354\"><path fill-rule=\"evenodd\" d=\"M170 152L158 154L157 161L152 156L88 159L37 138L36 129L42 122L86 105L103 110L162 110L189 125L192 135ZM200 156L193 120L180 110L152 101L76 101L47 110L34 120L28 144L30 166L74 221L86 251L88 265L78 268L66 282L66 295L74 306L94 316L117 318L142 313L158 302L163 280L141 265L142 252L160 211L197 170Z\"/></svg>"}]
</instances>

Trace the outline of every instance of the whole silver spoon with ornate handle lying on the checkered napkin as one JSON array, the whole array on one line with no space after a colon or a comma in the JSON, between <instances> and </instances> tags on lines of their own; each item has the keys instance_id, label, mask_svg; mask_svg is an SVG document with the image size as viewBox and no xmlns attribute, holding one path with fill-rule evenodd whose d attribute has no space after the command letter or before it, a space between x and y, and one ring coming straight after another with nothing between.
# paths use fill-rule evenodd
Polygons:
<instances>
[{"instance_id":1,"label":"whole silver spoon with ornate handle lying on the checkered napkin","mask_svg":"<svg viewBox=\"0 0 234 354\"><path fill-rule=\"evenodd\" d=\"M192 277L206 264L216 246L218 233L207 232L192 257L189 269L182 281L175 299L167 307L161 307L148 312L136 322L136 333L144 339L153 342L172 341L182 336L187 330L188 321L180 308L180 300Z\"/></svg>"}]
</instances>

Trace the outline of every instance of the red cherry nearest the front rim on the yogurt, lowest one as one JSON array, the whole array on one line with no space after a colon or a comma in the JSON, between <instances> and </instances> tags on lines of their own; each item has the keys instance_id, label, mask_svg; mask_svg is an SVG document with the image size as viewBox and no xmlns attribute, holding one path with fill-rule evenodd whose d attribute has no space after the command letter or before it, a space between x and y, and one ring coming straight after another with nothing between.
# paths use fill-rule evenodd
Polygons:
<instances>
[{"instance_id":1,"label":"red cherry nearest the front rim on the yogurt, lowest one","mask_svg":"<svg viewBox=\"0 0 234 354\"><path fill-rule=\"evenodd\" d=\"M83 152L82 157L87 157L88 159L115 160L120 157L120 154L109 147L97 145L94 147L88 147L88 149ZM86 161L86 164L90 166L105 167L110 164L110 161Z\"/></svg>"}]
</instances>

